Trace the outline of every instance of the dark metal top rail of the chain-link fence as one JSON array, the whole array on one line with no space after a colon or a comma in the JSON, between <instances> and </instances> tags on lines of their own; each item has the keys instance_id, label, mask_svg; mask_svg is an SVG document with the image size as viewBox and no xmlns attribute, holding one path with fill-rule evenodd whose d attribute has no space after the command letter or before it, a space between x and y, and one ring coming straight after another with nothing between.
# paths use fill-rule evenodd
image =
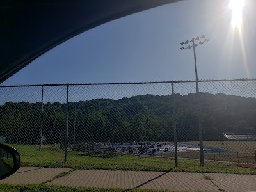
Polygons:
<instances>
[{"instance_id":1,"label":"dark metal top rail of the chain-link fence","mask_svg":"<svg viewBox=\"0 0 256 192\"><path fill-rule=\"evenodd\" d=\"M198 82L227 82L227 81L256 81L256 78L251 79L205 79ZM196 83L195 80L184 81L145 81L145 82L127 82L127 83L67 83L67 84L24 84L24 85L0 85L0 88L11 87L38 87L38 86L79 86L79 85L118 85L118 84L162 84L162 83Z\"/></svg>"}]
</instances>

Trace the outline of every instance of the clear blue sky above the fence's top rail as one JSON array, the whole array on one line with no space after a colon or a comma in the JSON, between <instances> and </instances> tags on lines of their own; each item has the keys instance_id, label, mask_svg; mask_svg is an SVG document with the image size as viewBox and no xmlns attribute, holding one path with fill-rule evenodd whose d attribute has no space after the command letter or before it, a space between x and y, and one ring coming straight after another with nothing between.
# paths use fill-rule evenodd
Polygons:
<instances>
[{"instance_id":1,"label":"clear blue sky above the fence's top rail","mask_svg":"<svg viewBox=\"0 0 256 192\"><path fill-rule=\"evenodd\" d=\"M242 9L229 3L182 1L108 22L46 52L2 85L191 80L193 49L181 51L180 42L202 35L210 40L196 47L198 79L256 77L256 1L244 0Z\"/></svg>"}]
</instances>

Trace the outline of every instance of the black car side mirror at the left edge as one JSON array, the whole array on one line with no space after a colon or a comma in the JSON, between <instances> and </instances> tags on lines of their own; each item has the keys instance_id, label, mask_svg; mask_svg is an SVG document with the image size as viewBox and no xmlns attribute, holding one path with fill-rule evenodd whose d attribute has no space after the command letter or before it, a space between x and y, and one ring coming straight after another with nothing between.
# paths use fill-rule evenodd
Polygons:
<instances>
[{"instance_id":1,"label":"black car side mirror at the left edge","mask_svg":"<svg viewBox=\"0 0 256 192\"><path fill-rule=\"evenodd\" d=\"M13 147L0 144L0 180L9 177L20 168L20 154Z\"/></svg>"}]
</instances>

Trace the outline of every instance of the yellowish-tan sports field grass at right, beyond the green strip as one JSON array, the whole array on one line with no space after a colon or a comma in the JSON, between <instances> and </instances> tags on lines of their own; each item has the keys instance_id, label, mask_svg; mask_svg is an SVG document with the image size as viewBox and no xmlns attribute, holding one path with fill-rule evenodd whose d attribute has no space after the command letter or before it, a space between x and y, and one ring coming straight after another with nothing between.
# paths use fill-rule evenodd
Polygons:
<instances>
[{"instance_id":1,"label":"yellowish-tan sports field grass at right, beyond the green strip","mask_svg":"<svg viewBox=\"0 0 256 192\"><path fill-rule=\"evenodd\" d=\"M198 141L186 142L198 145ZM222 145L224 143L224 146ZM178 144L179 145L179 144ZM205 150L207 147L214 147L227 152L204 153L204 159L209 161L225 161L229 163L256 164L256 142L253 141L204 141ZM158 154L159 156L159 154ZM174 157L174 153L161 154L161 156ZM200 159L200 154L194 150L179 152L178 157L182 159Z\"/></svg>"}]
</instances>

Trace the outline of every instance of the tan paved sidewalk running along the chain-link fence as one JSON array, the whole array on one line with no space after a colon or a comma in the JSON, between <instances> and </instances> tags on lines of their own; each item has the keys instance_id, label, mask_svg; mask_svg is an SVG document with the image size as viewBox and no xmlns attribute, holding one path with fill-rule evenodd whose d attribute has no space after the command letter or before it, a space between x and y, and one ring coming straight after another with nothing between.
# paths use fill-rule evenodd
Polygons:
<instances>
[{"instance_id":1,"label":"tan paved sidewalk running along the chain-link fence","mask_svg":"<svg viewBox=\"0 0 256 192\"><path fill-rule=\"evenodd\" d=\"M60 173L70 172L54 178ZM23 167L0 183L56 184L124 189L170 189L173 191L256 191L256 175L179 172L71 170Z\"/></svg>"}]
</instances>

